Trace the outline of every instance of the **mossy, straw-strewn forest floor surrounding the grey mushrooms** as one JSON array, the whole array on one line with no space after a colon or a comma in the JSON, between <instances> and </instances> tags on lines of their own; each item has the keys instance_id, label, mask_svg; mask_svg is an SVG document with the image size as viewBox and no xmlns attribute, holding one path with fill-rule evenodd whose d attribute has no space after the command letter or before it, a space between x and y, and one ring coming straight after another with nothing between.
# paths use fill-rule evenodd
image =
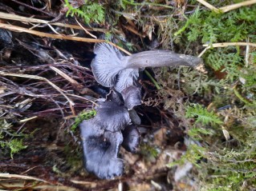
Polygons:
<instances>
[{"instance_id":1,"label":"mossy, straw-strewn forest floor surrounding the grey mushrooms","mask_svg":"<svg viewBox=\"0 0 256 191\"><path fill-rule=\"evenodd\" d=\"M2 0L0 189L256 190L254 3ZM113 180L83 168L76 128L108 91L91 73L98 42L205 67L140 74L140 148L120 149L124 175Z\"/></svg>"}]
</instances>

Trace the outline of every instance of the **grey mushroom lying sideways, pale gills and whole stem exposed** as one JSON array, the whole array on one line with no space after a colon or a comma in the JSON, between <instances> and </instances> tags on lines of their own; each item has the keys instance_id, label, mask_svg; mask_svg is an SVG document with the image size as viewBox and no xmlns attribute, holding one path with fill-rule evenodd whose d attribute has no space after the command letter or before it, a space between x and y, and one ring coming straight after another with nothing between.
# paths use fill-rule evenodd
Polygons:
<instances>
[{"instance_id":1,"label":"grey mushroom lying sideways, pale gills and whole stem exposed","mask_svg":"<svg viewBox=\"0 0 256 191\"><path fill-rule=\"evenodd\" d=\"M136 85L139 71L145 67L196 67L201 63L201 58L169 50L149 50L124 56L116 47L105 42L96 44L94 53L91 70L95 80L102 86L115 87L120 93L128 86Z\"/></svg>"}]
</instances>

